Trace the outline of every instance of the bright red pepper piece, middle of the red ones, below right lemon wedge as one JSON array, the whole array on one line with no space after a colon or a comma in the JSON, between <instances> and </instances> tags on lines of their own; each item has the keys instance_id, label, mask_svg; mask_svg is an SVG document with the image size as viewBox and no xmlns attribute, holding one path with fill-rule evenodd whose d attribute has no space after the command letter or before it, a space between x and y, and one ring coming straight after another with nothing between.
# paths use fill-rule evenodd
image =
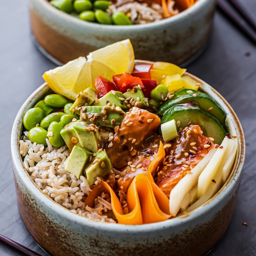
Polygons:
<instances>
[{"instance_id":1,"label":"bright red pepper piece, middle of the red ones, below right lemon wedge","mask_svg":"<svg viewBox=\"0 0 256 256\"><path fill-rule=\"evenodd\" d=\"M119 88L119 91L124 93L127 92L128 89L132 89L135 86L140 85L141 89L144 88L144 85L139 77L132 76L125 72L120 77L119 75L113 76L113 80L115 81L115 84Z\"/></svg>"}]
</instances>

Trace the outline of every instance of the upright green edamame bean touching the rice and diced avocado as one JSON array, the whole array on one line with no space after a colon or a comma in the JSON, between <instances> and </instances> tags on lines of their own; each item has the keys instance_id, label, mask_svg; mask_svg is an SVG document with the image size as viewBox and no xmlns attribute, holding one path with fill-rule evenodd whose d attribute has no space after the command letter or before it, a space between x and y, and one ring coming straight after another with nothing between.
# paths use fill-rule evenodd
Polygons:
<instances>
[{"instance_id":1,"label":"upright green edamame bean touching the rice and diced avocado","mask_svg":"<svg viewBox=\"0 0 256 256\"><path fill-rule=\"evenodd\" d=\"M61 137L62 129L63 129L62 124L56 121L53 121L48 127L47 136L48 136L49 142L52 144L52 146L56 148L60 148L65 144L64 140Z\"/></svg>"}]
</instances>

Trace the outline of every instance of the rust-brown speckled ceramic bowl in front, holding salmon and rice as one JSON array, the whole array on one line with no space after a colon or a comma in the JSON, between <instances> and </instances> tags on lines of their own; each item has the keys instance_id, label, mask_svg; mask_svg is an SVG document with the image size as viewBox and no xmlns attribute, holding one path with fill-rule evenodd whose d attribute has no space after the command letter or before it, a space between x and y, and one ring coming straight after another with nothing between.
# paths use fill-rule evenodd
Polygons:
<instances>
[{"instance_id":1,"label":"rust-brown speckled ceramic bowl in front, holding salmon and rice","mask_svg":"<svg viewBox=\"0 0 256 256\"><path fill-rule=\"evenodd\" d=\"M227 101L210 85L191 77L222 106L234 123L239 144L234 167L222 189L202 206L180 217L145 225L102 223L79 216L54 202L36 186L22 163L18 141L25 112L49 92L48 85L41 85L29 96L18 112L11 133L13 172L20 216L46 252L54 256L200 256L218 243L234 214L245 140L240 122Z\"/></svg>"}]
</instances>

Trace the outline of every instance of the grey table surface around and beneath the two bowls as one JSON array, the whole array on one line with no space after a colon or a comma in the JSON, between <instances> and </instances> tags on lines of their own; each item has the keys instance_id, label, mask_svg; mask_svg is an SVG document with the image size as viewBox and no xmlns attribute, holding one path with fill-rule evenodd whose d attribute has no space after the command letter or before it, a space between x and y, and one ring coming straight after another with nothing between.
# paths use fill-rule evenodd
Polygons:
<instances>
[{"instance_id":1,"label":"grey table surface around and beneath the two bowls","mask_svg":"<svg viewBox=\"0 0 256 256\"><path fill-rule=\"evenodd\" d=\"M30 39L25 0L0 0L0 234L41 249L23 225L16 203L10 136L22 103L43 83L42 74L56 65ZM256 18L256 1L243 0ZM218 90L235 110L243 126L246 157L234 218L210 256L256 255L256 45L217 10L209 45L188 71ZM243 225L244 222L248 226ZM22 255L0 242L0 255Z\"/></svg>"}]
</instances>

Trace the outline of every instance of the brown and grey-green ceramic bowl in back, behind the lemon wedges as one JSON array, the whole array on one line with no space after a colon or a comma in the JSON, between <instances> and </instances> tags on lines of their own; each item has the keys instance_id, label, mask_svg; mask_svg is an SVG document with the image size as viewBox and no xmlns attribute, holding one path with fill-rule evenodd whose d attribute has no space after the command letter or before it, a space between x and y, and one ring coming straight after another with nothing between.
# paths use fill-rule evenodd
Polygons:
<instances>
[{"instance_id":1,"label":"brown and grey-green ceramic bowl in back, behind the lemon wedges","mask_svg":"<svg viewBox=\"0 0 256 256\"><path fill-rule=\"evenodd\" d=\"M130 38L138 59L186 65L202 52L209 39L216 0L199 0L171 18L130 26L84 22L46 0L27 2L33 40L57 64Z\"/></svg>"}]
</instances>

